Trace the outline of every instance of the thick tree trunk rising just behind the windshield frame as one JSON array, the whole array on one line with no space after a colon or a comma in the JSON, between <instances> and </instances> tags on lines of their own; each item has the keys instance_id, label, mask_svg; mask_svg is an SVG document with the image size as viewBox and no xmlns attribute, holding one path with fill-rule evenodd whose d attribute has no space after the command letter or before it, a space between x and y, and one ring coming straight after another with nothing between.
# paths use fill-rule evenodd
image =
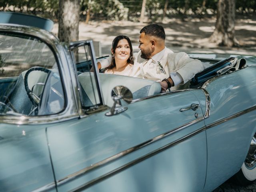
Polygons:
<instances>
[{"instance_id":1,"label":"thick tree trunk rising just behind the windshield frame","mask_svg":"<svg viewBox=\"0 0 256 192\"><path fill-rule=\"evenodd\" d=\"M79 0L60 0L58 38L61 42L78 40L79 12Z\"/></svg>"}]
</instances>

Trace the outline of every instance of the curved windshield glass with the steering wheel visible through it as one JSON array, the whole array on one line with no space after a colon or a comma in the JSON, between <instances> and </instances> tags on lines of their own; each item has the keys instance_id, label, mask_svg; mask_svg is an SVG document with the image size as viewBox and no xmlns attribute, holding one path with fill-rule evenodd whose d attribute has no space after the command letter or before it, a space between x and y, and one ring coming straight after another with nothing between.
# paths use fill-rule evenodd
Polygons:
<instances>
[{"instance_id":1,"label":"curved windshield glass with the steering wheel visible through it","mask_svg":"<svg viewBox=\"0 0 256 192\"><path fill-rule=\"evenodd\" d=\"M0 114L48 115L64 108L56 58L41 40L0 32Z\"/></svg>"}]
</instances>

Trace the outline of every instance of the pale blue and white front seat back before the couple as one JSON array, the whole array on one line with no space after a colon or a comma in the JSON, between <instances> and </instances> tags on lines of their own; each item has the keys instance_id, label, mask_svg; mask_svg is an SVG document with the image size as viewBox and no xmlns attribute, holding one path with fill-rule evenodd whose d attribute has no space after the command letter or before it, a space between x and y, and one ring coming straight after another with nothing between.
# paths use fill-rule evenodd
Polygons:
<instances>
[{"instance_id":1,"label":"pale blue and white front seat back before the couple","mask_svg":"<svg viewBox=\"0 0 256 192\"><path fill-rule=\"evenodd\" d=\"M96 104L98 101L97 101L97 98L95 101L94 93L92 92L92 86L94 87L94 91L95 91L96 85L94 81L93 81L93 85L91 85L90 75L92 76L92 79L94 79L94 73L84 72L78 75L78 81L80 82L83 91L88 96L87 100L90 99L90 102L92 102L92 104ZM127 87L132 92L133 99L143 98L143 97L151 96L161 92L160 84L153 80L145 80L142 78L134 78L134 77L123 76L123 75L103 74L103 73L99 74L99 79L100 79L100 86L102 89L103 99L105 104L108 106L112 106L112 104L114 103L114 101L111 98L111 91L115 86L122 85ZM85 103L86 98L84 98L83 100Z\"/></svg>"}]
</instances>

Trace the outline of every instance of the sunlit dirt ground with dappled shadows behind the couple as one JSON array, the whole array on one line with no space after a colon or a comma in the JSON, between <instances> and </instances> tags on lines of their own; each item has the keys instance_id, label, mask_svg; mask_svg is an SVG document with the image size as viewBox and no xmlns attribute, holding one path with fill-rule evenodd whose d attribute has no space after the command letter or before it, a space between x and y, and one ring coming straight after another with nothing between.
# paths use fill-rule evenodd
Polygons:
<instances>
[{"instance_id":1,"label":"sunlit dirt ground with dappled shadows behind the couple","mask_svg":"<svg viewBox=\"0 0 256 192\"><path fill-rule=\"evenodd\" d=\"M79 40L92 39L99 41L102 54L109 54L112 40L120 34L130 37L134 50L138 50L140 29L148 23L140 24L130 21L92 21L89 24L80 22ZM158 23L165 28L166 46L174 52L188 53L228 53L250 54L256 56L256 18L245 16L236 19L235 34L241 44L239 48L225 48L208 42L215 25L215 18L180 18L166 19ZM58 24L53 32L58 33Z\"/></svg>"}]
</instances>

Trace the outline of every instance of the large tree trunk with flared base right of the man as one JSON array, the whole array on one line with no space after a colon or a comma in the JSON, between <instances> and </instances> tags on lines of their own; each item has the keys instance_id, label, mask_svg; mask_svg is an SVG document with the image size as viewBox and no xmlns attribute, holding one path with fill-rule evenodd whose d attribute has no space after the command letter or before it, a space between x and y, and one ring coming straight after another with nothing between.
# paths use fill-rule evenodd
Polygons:
<instances>
[{"instance_id":1,"label":"large tree trunk with flared base right of the man","mask_svg":"<svg viewBox=\"0 0 256 192\"><path fill-rule=\"evenodd\" d=\"M238 46L235 38L235 0L219 0L215 30L210 42L223 46Z\"/></svg>"}]
</instances>

